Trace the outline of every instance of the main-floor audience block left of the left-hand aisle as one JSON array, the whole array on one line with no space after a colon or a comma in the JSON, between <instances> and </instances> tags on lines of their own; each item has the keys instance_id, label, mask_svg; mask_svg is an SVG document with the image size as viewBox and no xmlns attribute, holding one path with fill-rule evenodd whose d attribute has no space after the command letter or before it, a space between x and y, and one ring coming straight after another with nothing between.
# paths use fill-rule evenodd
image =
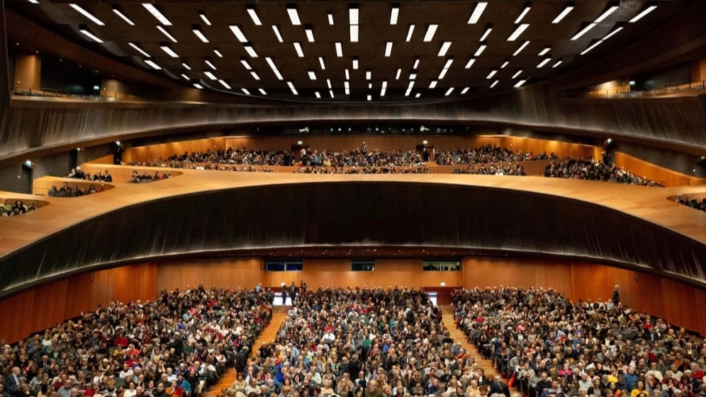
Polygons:
<instances>
[{"instance_id":1,"label":"main-floor audience block left of the left-hand aisle","mask_svg":"<svg viewBox=\"0 0 706 397\"><path fill-rule=\"evenodd\" d=\"M273 298L198 287L99 306L0 346L1 396L196 397L247 360Z\"/></svg>"}]
</instances>

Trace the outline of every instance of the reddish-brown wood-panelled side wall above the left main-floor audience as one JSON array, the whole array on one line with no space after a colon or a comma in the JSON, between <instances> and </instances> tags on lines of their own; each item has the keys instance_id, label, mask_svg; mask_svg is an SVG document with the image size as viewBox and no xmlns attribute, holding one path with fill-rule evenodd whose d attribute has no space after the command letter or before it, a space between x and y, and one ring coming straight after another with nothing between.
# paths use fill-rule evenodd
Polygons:
<instances>
[{"instance_id":1,"label":"reddish-brown wood-panelled side wall above the left main-floor audience","mask_svg":"<svg viewBox=\"0 0 706 397\"><path fill-rule=\"evenodd\" d=\"M140 264L51 281L0 301L0 339L15 342L111 301L154 300L157 266Z\"/></svg>"}]
</instances>

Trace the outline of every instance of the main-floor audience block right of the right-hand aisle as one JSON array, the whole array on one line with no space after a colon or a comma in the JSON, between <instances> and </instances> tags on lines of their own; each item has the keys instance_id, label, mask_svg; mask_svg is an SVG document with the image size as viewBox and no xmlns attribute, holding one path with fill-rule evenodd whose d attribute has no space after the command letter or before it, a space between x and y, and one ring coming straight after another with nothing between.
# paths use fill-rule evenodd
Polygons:
<instances>
[{"instance_id":1,"label":"main-floor audience block right of the right-hand aisle","mask_svg":"<svg viewBox=\"0 0 706 397\"><path fill-rule=\"evenodd\" d=\"M529 397L703 397L706 345L612 300L551 289L459 289L456 326ZM675 303L677 304L677 303Z\"/></svg>"}]
</instances>

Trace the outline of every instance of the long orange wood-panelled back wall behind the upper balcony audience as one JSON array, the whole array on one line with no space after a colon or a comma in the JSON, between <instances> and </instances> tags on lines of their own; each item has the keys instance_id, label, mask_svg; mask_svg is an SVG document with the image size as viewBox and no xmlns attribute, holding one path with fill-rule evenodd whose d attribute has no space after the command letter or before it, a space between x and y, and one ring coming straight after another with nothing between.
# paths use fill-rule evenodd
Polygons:
<instances>
[{"instance_id":1,"label":"long orange wood-panelled back wall behind the upper balcony audience","mask_svg":"<svg viewBox=\"0 0 706 397\"><path fill-rule=\"evenodd\" d=\"M491 132L492 133L492 132ZM544 139L507 137L504 135L486 135L480 137L447 137L447 136L415 136L415 137L371 137L371 136L347 136L347 137L219 137L208 139L196 139L191 141L170 142L167 144L155 144L151 146L140 146L131 148L123 154L123 161L152 161L162 158L166 160L174 154L184 154L193 151L206 151L211 149L242 149L247 150L290 150L293 144L298 141L308 145L310 149L316 150L354 150L359 149L363 142L366 142L369 150L415 150L418 144L427 141L434 145L435 150L449 150L456 148L470 148L478 146L500 146L508 149L532 151L534 154L540 151L556 153L559 156L588 157L595 154L594 146L572 144L568 142L549 141Z\"/></svg>"}]
</instances>

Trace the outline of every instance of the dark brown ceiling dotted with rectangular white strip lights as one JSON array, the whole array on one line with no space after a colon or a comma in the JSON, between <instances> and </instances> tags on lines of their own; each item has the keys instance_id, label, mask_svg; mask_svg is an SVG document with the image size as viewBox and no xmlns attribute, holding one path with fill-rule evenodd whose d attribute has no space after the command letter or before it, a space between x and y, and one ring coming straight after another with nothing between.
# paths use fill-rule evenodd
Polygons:
<instances>
[{"instance_id":1,"label":"dark brown ceiling dotted with rectangular white strip lights","mask_svg":"<svg viewBox=\"0 0 706 397\"><path fill-rule=\"evenodd\" d=\"M77 3L104 25L91 21L76 8L69 6L69 3L69 0L39 0L39 4L27 0L11 0L6 2L6 6L69 40L127 64L176 79L186 86L201 84L206 89L211 87L238 94L247 90L253 96L261 96L264 92L268 97L316 100L320 96L321 100L327 101L355 101L429 100L444 98L450 88L453 90L449 96L453 97L512 88L522 80L527 81L525 84L542 81L627 47L672 18L689 0L545 0L531 3L495 0L487 2L476 23L469 23L469 18L479 7L477 1L370 1L356 4L339 1L291 4L269 1L252 4L240 1L152 3L172 25L158 21L140 1ZM652 5L657 6L653 12L637 22L629 23ZM520 23L515 23L528 6L530 10ZM567 6L574 8L562 21L552 23ZM571 40L612 6L617 6L614 12L578 40ZM257 13L262 25L254 23L248 8ZM301 25L293 25L288 8L296 8ZM358 42L351 42L349 8L359 10ZM391 25L393 8L399 10L395 25ZM113 9L123 13L135 25L129 25ZM201 18L201 13L211 25ZM332 25L329 15L332 16ZM508 41L510 35L525 23L529 26L519 38ZM230 29L231 25L240 28L247 43L238 40ZM276 37L273 25L278 27L283 42L279 42ZM415 28L407 41L410 25ZM438 28L432 40L425 42L422 39L430 25L438 25ZM158 26L164 28L177 42L167 38L158 30ZM476 57L474 54L481 45L480 38L491 27L491 33L486 38L487 48ZM581 55L588 47L621 27L622 30L610 39ZM202 42L197 37L193 32L195 28L206 36L208 42ZM103 43L84 35L79 31L82 29L94 34ZM307 29L313 33L313 42L308 40ZM517 56L513 56L527 41L529 44ZM337 56L337 42L341 43L342 57ZM390 56L386 57L388 42L392 43L392 47ZM440 55L444 42L451 44L447 53ZM140 54L128 43L133 43L150 57ZM303 57L298 56L294 43L301 45ZM248 54L246 45L252 46L257 57ZM170 57L162 50L162 46L169 47L178 57ZM550 50L540 56L539 52L544 48ZM223 57L215 54L214 50L218 50ZM540 62L547 57L551 60L539 68ZM276 77L267 58L276 65L281 80ZM471 58L476 60L466 69ZM155 62L162 69L152 69L145 64L145 59ZM359 61L358 69L354 68L354 59ZM415 59L419 59L416 69ZM206 60L216 69L208 66ZM252 67L259 80L254 78L241 60ZM561 64L556 65L559 61ZM182 62L191 70L186 70ZM505 62L507 65L503 68ZM446 65L449 65L449 69L439 79ZM399 78L398 70L401 71ZM497 73L488 79L488 74L493 70L497 70ZM211 80L205 71L210 71L218 80ZM366 76L368 71L370 79ZM315 80L310 78L310 72L315 75ZM183 79L182 74L189 80ZM411 80L410 75L413 74L416 76ZM431 88L434 81L437 81L435 88ZM495 81L498 83L493 86ZM345 92L346 82L349 84L348 95ZM408 93L411 82L414 84ZM288 83L296 89L296 95ZM387 88L385 96L381 97L383 84ZM405 93L409 95L405 96Z\"/></svg>"}]
</instances>

